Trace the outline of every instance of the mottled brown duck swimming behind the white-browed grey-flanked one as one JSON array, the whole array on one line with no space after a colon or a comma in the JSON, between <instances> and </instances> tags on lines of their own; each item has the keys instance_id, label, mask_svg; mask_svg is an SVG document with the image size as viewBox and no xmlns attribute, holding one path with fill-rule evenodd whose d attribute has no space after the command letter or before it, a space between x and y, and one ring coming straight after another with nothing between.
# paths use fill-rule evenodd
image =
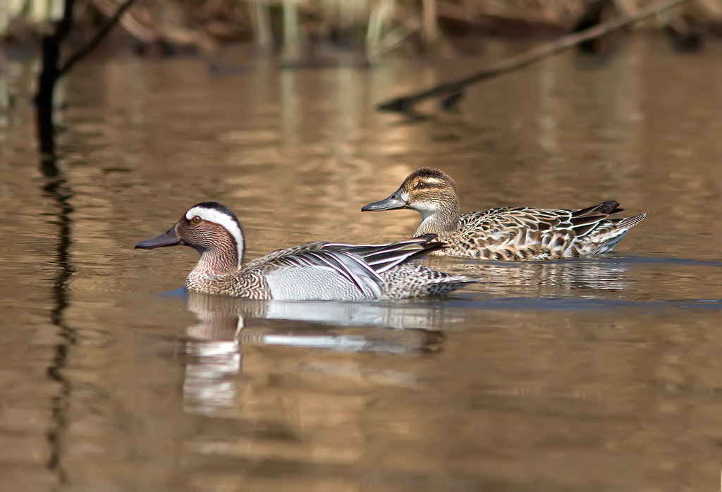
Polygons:
<instances>
[{"instance_id":1,"label":"mottled brown duck swimming behind the white-browed grey-flanked one","mask_svg":"<svg viewBox=\"0 0 722 492\"><path fill-rule=\"evenodd\" d=\"M646 214L609 219L621 212L613 200L578 210L501 207L459 216L456 183L440 170L421 167L388 198L361 211L413 208L422 215L414 236L437 234L448 247L431 255L483 260L549 260L597 255L614 249Z\"/></svg>"}]
</instances>

